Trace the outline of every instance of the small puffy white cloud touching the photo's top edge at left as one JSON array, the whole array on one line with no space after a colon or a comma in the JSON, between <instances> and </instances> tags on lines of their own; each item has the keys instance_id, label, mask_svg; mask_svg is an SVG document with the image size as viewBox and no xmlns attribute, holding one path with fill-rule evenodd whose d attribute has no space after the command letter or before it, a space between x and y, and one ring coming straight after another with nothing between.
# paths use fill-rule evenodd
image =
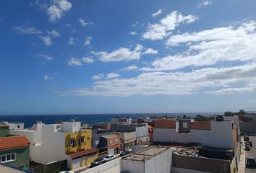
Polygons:
<instances>
[{"instance_id":1,"label":"small puffy white cloud touching the photo's top edge at left","mask_svg":"<svg viewBox=\"0 0 256 173\"><path fill-rule=\"evenodd\" d=\"M50 22L61 19L65 12L72 8L72 4L67 0L53 0L51 6L47 9L47 15Z\"/></svg>"}]
</instances>

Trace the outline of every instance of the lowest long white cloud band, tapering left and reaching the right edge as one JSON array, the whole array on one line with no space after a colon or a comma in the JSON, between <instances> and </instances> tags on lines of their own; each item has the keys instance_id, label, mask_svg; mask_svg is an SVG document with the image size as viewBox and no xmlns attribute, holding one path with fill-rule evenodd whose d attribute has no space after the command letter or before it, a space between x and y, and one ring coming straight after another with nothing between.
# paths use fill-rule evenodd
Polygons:
<instances>
[{"instance_id":1,"label":"lowest long white cloud band, tapering left and reaching the right edge","mask_svg":"<svg viewBox=\"0 0 256 173\"><path fill-rule=\"evenodd\" d=\"M231 68L202 68L190 72L148 72L128 79L95 81L91 88L74 89L63 94L116 97L189 95L205 92L205 89L209 91L216 88L231 88L233 84L244 84L243 87L256 89L255 81L256 63L249 63ZM252 89L244 90L252 91Z\"/></svg>"}]
</instances>

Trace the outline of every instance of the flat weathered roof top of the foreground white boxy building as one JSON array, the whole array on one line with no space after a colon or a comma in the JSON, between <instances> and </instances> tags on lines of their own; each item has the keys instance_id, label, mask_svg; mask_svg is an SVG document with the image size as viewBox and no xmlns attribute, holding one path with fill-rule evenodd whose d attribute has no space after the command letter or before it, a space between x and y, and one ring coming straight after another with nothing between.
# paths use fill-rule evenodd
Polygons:
<instances>
[{"instance_id":1,"label":"flat weathered roof top of the foreground white boxy building","mask_svg":"<svg viewBox=\"0 0 256 173\"><path fill-rule=\"evenodd\" d=\"M131 161L147 161L149 159L152 159L155 156L158 156L159 154L162 154L163 152L168 151L169 148L146 148L145 150L142 150L136 154L132 154L129 156L125 156L122 159L124 160L131 160Z\"/></svg>"}]
</instances>

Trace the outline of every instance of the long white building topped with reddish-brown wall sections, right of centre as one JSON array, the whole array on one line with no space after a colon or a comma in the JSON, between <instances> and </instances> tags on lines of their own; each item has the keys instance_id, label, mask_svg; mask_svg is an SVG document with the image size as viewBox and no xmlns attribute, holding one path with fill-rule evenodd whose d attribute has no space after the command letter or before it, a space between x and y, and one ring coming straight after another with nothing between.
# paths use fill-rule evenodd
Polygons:
<instances>
[{"instance_id":1,"label":"long white building topped with reddish-brown wall sections, right of centre","mask_svg":"<svg viewBox=\"0 0 256 173\"><path fill-rule=\"evenodd\" d=\"M179 133L179 120L155 120L154 142L201 143L202 146L236 148L239 142L233 121L190 122L189 133Z\"/></svg>"}]
</instances>

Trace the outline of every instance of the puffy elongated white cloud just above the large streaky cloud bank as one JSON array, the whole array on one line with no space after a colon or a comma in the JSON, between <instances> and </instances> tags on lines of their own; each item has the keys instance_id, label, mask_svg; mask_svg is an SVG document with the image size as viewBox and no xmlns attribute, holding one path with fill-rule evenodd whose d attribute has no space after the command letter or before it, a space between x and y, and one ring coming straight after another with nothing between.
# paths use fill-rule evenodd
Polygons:
<instances>
[{"instance_id":1,"label":"puffy elongated white cloud just above the large streaky cloud bank","mask_svg":"<svg viewBox=\"0 0 256 173\"><path fill-rule=\"evenodd\" d=\"M189 24L195 22L197 17L194 15L183 16L178 12L171 12L165 18L155 24L148 24L146 32L143 33L142 38L148 40L162 40L171 34L171 30L175 30L180 24Z\"/></svg>"}]
</instances>

